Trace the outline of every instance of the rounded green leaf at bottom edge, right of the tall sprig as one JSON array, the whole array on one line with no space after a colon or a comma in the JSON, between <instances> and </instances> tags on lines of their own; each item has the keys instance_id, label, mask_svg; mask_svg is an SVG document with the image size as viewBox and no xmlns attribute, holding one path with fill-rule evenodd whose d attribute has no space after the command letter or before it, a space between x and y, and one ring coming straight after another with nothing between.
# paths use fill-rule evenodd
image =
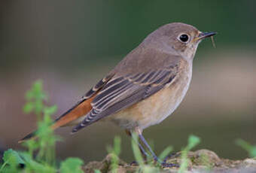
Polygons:
<instances>
[{"instance_id":1,"label":"rounded green leaf at bottom edge, right of the tall sprig","mask_svg":"<svg viewBox=\"0 0 256 173\"><path fill-rule=\"evenodd\" d=\"M65 161L61 162L60 164L60 172L61 173L84 173L84 171L81 169L81 165L83 165L84 162L81 159L78 158L68 158Z\"/></svg>"}]
</instances>

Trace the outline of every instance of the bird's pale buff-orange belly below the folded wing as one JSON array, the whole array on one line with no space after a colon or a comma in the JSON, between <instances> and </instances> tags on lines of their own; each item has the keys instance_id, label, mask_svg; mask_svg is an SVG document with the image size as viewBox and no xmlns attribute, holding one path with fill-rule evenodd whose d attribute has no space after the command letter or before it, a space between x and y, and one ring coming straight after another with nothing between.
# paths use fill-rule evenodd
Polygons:
<instances>
[{"instance_id":1,"label":"bird's pale buff-orange belly below the folded wing","mask_svg":"<svg viewBox=\"0 0 256 173\"><path fill-rule=\"evenodd\" d=\"M123 129L133 129L136 126L145 129L160 123L181 103L189 83L190 77L185 77L184 80L166 86L148 99L109 116L109 119Z\"/></svg>"}]
</instances>

